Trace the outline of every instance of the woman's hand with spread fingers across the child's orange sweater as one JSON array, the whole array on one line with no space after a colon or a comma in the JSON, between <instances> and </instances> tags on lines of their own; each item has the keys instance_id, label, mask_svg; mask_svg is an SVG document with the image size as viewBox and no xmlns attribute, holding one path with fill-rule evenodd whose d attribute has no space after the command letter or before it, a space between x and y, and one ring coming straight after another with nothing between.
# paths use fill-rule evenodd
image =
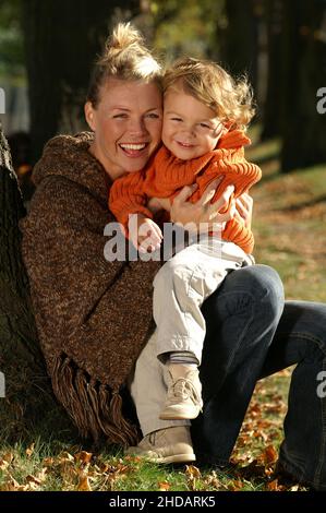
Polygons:
<instances>
[{"instance_id":1,"label":"woman's hand with spread fingers across the child's orange sweater","mask_svg":"<svg viewBox=\"0 0 326 513\"><path fill-rule=\"evenodd\" d=\"M224 177L219 177L209 183L204 194L196 203L191 203L186 200L192 195L197 186L183 187L171 205L171 222L183 226L188 230L191 230L191 226L193 226L194 229L198 229L200 225L204 223L206 224L205 229L207 229L208 224L209 230L216 230L217 225L221 226L224 223L230 220L234 216L234 207L231 207L226 214L219 214L219 211L229 204L230 196L234 191L233 186L227 187L220 198L215 203L210 203L222 179Z\"/></svg>"}]
</instances>

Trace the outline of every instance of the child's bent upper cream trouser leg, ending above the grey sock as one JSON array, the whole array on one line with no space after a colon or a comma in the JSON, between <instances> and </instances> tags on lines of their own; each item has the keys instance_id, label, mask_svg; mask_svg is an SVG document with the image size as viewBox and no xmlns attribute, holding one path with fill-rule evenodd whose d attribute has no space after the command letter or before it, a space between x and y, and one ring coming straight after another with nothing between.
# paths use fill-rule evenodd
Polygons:
<instances>
[{"instance_id":1,"label":"child's bent upper cream trouser leg, ending above the grey sock","mask_svg":"<svg viewBox=\"0 0 326 513\"><path fill-rule=\"evenodd\" d=\"M165 263L155 276L153 297L157 356L162 362L171 351L189 351L201 365L206 335L203 302L230 271L252 263L239 246L209 236Z\"/></svg>"}]
</instances>

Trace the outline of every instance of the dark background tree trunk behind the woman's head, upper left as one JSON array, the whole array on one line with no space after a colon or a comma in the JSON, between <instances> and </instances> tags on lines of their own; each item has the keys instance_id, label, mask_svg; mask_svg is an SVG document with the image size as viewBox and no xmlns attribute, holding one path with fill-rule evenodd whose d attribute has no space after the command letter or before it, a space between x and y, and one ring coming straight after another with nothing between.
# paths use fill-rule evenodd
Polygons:
<instances>
[{"instance_id":1,"label":"dark background tree trunk behind the woman's head, upper left","mask_svg":"<svg viewBox=\"0 0 326 513\"><path fill-rule=\"evenodd\" d=\"M138 1L24 0L22 5L36 160L58 131L84 127L82 106L94 59L112 23L130 19Z\"/></svg>"}]
</instances>

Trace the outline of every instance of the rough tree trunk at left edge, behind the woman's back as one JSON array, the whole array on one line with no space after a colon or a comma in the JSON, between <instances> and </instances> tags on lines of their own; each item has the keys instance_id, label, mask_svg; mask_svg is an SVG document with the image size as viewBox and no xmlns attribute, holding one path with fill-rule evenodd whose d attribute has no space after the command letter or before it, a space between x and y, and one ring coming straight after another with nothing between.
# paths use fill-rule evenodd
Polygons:
<instances>
[{"instance_id":1,"label":"rough tree trunk at left edge, behind the woman's back","mask_svg":"<svg viewBox=\"0 0 326 513\"><path fill-rule=\"evenodd\" d=\"M31 306L21 256L19 220L25 208L0 124L0 371L5 396L1 402L2 437L16 439L35 430L50 410L61 415L51 392Z\"/></svg>"}]
</instances>

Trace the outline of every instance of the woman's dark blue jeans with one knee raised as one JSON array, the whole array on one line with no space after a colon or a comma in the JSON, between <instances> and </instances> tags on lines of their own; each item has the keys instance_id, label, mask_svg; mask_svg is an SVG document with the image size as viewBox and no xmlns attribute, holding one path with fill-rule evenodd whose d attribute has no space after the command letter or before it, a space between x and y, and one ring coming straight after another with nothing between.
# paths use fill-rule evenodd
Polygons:
<instances>
[{"instance_id":1,"label":"woman's dark blue jeans with one knee raised","mask_svg":"<svg viewBox=\"0 0 326 513\"><path fill-rule=\"evenodd\" d=\"M317 394L326 369L326 305L285 303L277 273L254 265L230 273L203 313L205 406L192 422L196 455L227 464L256 381L298 363L279 461L299 481L326 490L326 394Z\"/></svg>"}]
</instances>

